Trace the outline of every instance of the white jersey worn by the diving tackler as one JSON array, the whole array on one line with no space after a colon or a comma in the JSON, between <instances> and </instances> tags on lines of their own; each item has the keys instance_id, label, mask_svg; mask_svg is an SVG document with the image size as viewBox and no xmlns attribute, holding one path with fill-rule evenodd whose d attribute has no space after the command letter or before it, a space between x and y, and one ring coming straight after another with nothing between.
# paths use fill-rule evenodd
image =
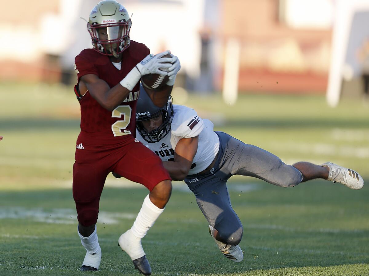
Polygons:
<instances>
[{"instance_id":1,"label":"white jersey worn by the diving tackler","mask_svg":"<svg viewBox=\"0 0 369 276\"><path fill-rule=\"evenodd\" d=\"M199 146L189 174L205 170L219 150L219 137L213 131L213 123L197 116L194 109L173 105L173 121L170 133L156 143L146 142L136 129L136 139L154 151L162 161L174 161L176 145L180 139L199 136Z\"/></svg>"}]
</instances>

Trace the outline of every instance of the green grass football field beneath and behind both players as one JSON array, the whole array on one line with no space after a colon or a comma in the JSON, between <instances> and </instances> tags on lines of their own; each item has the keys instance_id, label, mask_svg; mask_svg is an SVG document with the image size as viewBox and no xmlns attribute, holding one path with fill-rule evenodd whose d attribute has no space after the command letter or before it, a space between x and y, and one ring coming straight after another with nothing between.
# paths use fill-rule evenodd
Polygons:
<instances>
[{"instance_id":1,"label":"green grass football field beneath and behind both players","mask_svg":"<svg viewBox=\"0 0 369 276\"><path fill-rule=\"evenodd\" d=\"M79 271L85 249L71 190L79 133L73 91L5 83L0 102L0 275L86 274ZM186 105L213 120L215 130L286 163L332 161L369 180L369 108L359 100L330 109L323 96L244 95L228 106L220 96L190 94ZM142 242L153 275L369 275L368 187L314 180L279 188L234 176L228 189L244 225L244 260L222 256L194 195L174 182L165 212ZM108 176L96 275L138 275L117 240L146 194L139 184Z\"/></svg>"}]
</instances>

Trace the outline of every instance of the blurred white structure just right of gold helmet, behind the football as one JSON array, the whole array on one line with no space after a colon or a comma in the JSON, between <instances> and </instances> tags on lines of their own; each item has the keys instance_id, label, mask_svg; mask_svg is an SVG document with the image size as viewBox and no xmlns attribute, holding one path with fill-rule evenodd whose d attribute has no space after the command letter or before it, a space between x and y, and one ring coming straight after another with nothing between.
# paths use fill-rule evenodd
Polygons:
<instances>
[{"instance_id":1,"label":"blurred white structure just right of gold helmet, behind the football","mask_svg":"<svg viewBox=\"0 0 369 276\"><path fill-rule=\"evenodd\" d=\"M152 54L171 50L188 75L200 74L204 0L121 0L132 14L131 39L144 43Z\"/></svg>"}]
</instances>

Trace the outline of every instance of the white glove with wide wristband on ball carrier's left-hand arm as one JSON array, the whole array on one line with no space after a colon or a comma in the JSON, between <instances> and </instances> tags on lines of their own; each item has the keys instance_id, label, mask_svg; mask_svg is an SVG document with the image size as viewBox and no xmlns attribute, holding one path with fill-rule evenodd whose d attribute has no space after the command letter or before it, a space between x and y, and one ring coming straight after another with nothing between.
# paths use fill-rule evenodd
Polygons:
<instances>
[{"instance_id":1,"label":"white glove with wide wristband on ball carrier's left-hand arm","mask_svg":"<svg viewBox=\"0 0 369 276\"><path fill-rule=\"evenodd\" d=\"M148 74L159 74L159 75L168 75L168 72L160 70L168 69L172 67L171 63L164 62L172 62L173 58L162 58L166 54L170 54L170 51L161 52L156 55L149 54L142 61L140 61L128 74L124 79L120 81L120 85L127 88L129 91L135 87L139 79ZM169 71L169 70L168 70Z\"/></svg>"}]
</instances>

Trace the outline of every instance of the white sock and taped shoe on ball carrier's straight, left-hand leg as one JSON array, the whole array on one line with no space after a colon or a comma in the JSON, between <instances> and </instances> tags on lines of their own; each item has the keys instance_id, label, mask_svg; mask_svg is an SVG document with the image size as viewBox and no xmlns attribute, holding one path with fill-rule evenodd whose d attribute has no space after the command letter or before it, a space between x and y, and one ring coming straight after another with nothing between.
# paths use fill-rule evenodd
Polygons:
<instances>
[{"instance_id":1,"label":"white sock and taped shoe on ball carrier's straight, left-hand leg","mask_svg":"<svg viewBox=\"0 0 369 276\"><path fill-rule=\"evenodd\" d=\"M78 227L77 227L77 232L81 239L81 243L83 247L87 251L82 265L92 266L93 268L99 269L100 262L101 262L101 248L99 245L99 241L97 239L96 229L97 227L95 225L95 230L88 237L82 236L78 231Z\"/></svg>"}]
</instances>

